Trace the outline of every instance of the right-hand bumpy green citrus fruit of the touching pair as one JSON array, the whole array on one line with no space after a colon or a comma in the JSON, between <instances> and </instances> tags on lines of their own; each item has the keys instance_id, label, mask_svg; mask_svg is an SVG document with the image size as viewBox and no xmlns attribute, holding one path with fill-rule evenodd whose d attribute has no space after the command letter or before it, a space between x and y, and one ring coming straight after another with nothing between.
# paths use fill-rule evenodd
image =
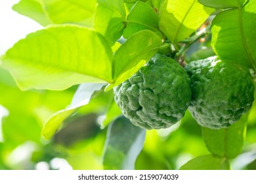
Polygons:
<instances>
[{"instance_id":1,"label":"right-hand bumpy green citrus fruit of the touching pair","mask_svg":"<svg viewBox=\"0 0 256 183\"><path fill-rule=\"evenodd\" d=\"M235 61L211 57L192 61L185 70L192 89L188 110L203 127L228 127L251 108L254 100L251 75Z\"/></svg>"}]
</instances>

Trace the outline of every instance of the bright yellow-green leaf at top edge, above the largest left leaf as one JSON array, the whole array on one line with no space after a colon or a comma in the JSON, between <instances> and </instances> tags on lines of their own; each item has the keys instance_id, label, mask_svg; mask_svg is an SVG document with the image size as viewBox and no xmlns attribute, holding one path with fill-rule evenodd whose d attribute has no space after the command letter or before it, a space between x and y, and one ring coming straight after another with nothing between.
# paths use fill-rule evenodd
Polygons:
<instances>
[{"instance_id":1,"label":"bright yellow-green leaf at top edge, above the largest left leaf","mask_svg":"<svg viewBox=\"0 0 256 183\"><path fill-rule=\"evenodd\" d=\"M21 0L13 9L39 24L79 24L93 26L96 0Z\"/></svg>"}]
</instances>

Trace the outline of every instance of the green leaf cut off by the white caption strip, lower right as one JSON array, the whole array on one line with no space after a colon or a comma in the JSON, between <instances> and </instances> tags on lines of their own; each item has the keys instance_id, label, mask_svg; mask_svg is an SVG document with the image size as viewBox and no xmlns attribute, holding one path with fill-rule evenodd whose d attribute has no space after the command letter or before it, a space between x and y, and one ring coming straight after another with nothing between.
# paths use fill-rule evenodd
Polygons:
<instances>
[{"instance_id":1,"label":"green leaf cut off by the white caption strip, lower right","mask_svg":"<svg viewBox=\"0 0 256 183\"><path fill-rule=\"evenodd\" d=\"M230 164L226 158L212 154L199 156L182 165L181 170L229 170Z\"/></svg>"}]
</instances>

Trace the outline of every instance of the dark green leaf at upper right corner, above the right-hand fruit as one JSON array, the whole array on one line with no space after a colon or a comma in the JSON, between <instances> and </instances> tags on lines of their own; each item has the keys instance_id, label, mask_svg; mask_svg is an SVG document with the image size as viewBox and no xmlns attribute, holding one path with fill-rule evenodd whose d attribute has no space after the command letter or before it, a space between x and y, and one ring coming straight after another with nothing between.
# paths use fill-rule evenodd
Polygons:
<instances>
[{"instance_id":1,"label":"dark green leaf at upper right corner, above the right-hand fruit","mask_svg":"<svg viewBox=\"0 0 256 183\"><path fill-rule=\"evenodd\" d=\"M256 1L218 14L212 22L212 46L218 56L255 69ZM232 31L230 31L232 30Z\"/></svg>"}]
</instances>

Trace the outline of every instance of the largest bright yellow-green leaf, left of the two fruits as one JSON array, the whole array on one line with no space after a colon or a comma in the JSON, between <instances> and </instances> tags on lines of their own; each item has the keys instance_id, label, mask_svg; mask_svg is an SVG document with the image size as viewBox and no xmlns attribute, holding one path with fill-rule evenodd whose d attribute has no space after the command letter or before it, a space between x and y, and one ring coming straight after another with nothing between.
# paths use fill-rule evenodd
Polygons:
<instances>
[{"instance_id":1,"label":"largest bright yellow-green leaf, left of the two fruits","mask_svg":"<svg viewBox=\"0 0 256 183\"><path fill-rule=\"evenodd\" d=\"M18 41L2 58L22 90L64 90L83 82L112 82L112 50L99 33L54 25Z\"/></svg>"}]
</instances>

